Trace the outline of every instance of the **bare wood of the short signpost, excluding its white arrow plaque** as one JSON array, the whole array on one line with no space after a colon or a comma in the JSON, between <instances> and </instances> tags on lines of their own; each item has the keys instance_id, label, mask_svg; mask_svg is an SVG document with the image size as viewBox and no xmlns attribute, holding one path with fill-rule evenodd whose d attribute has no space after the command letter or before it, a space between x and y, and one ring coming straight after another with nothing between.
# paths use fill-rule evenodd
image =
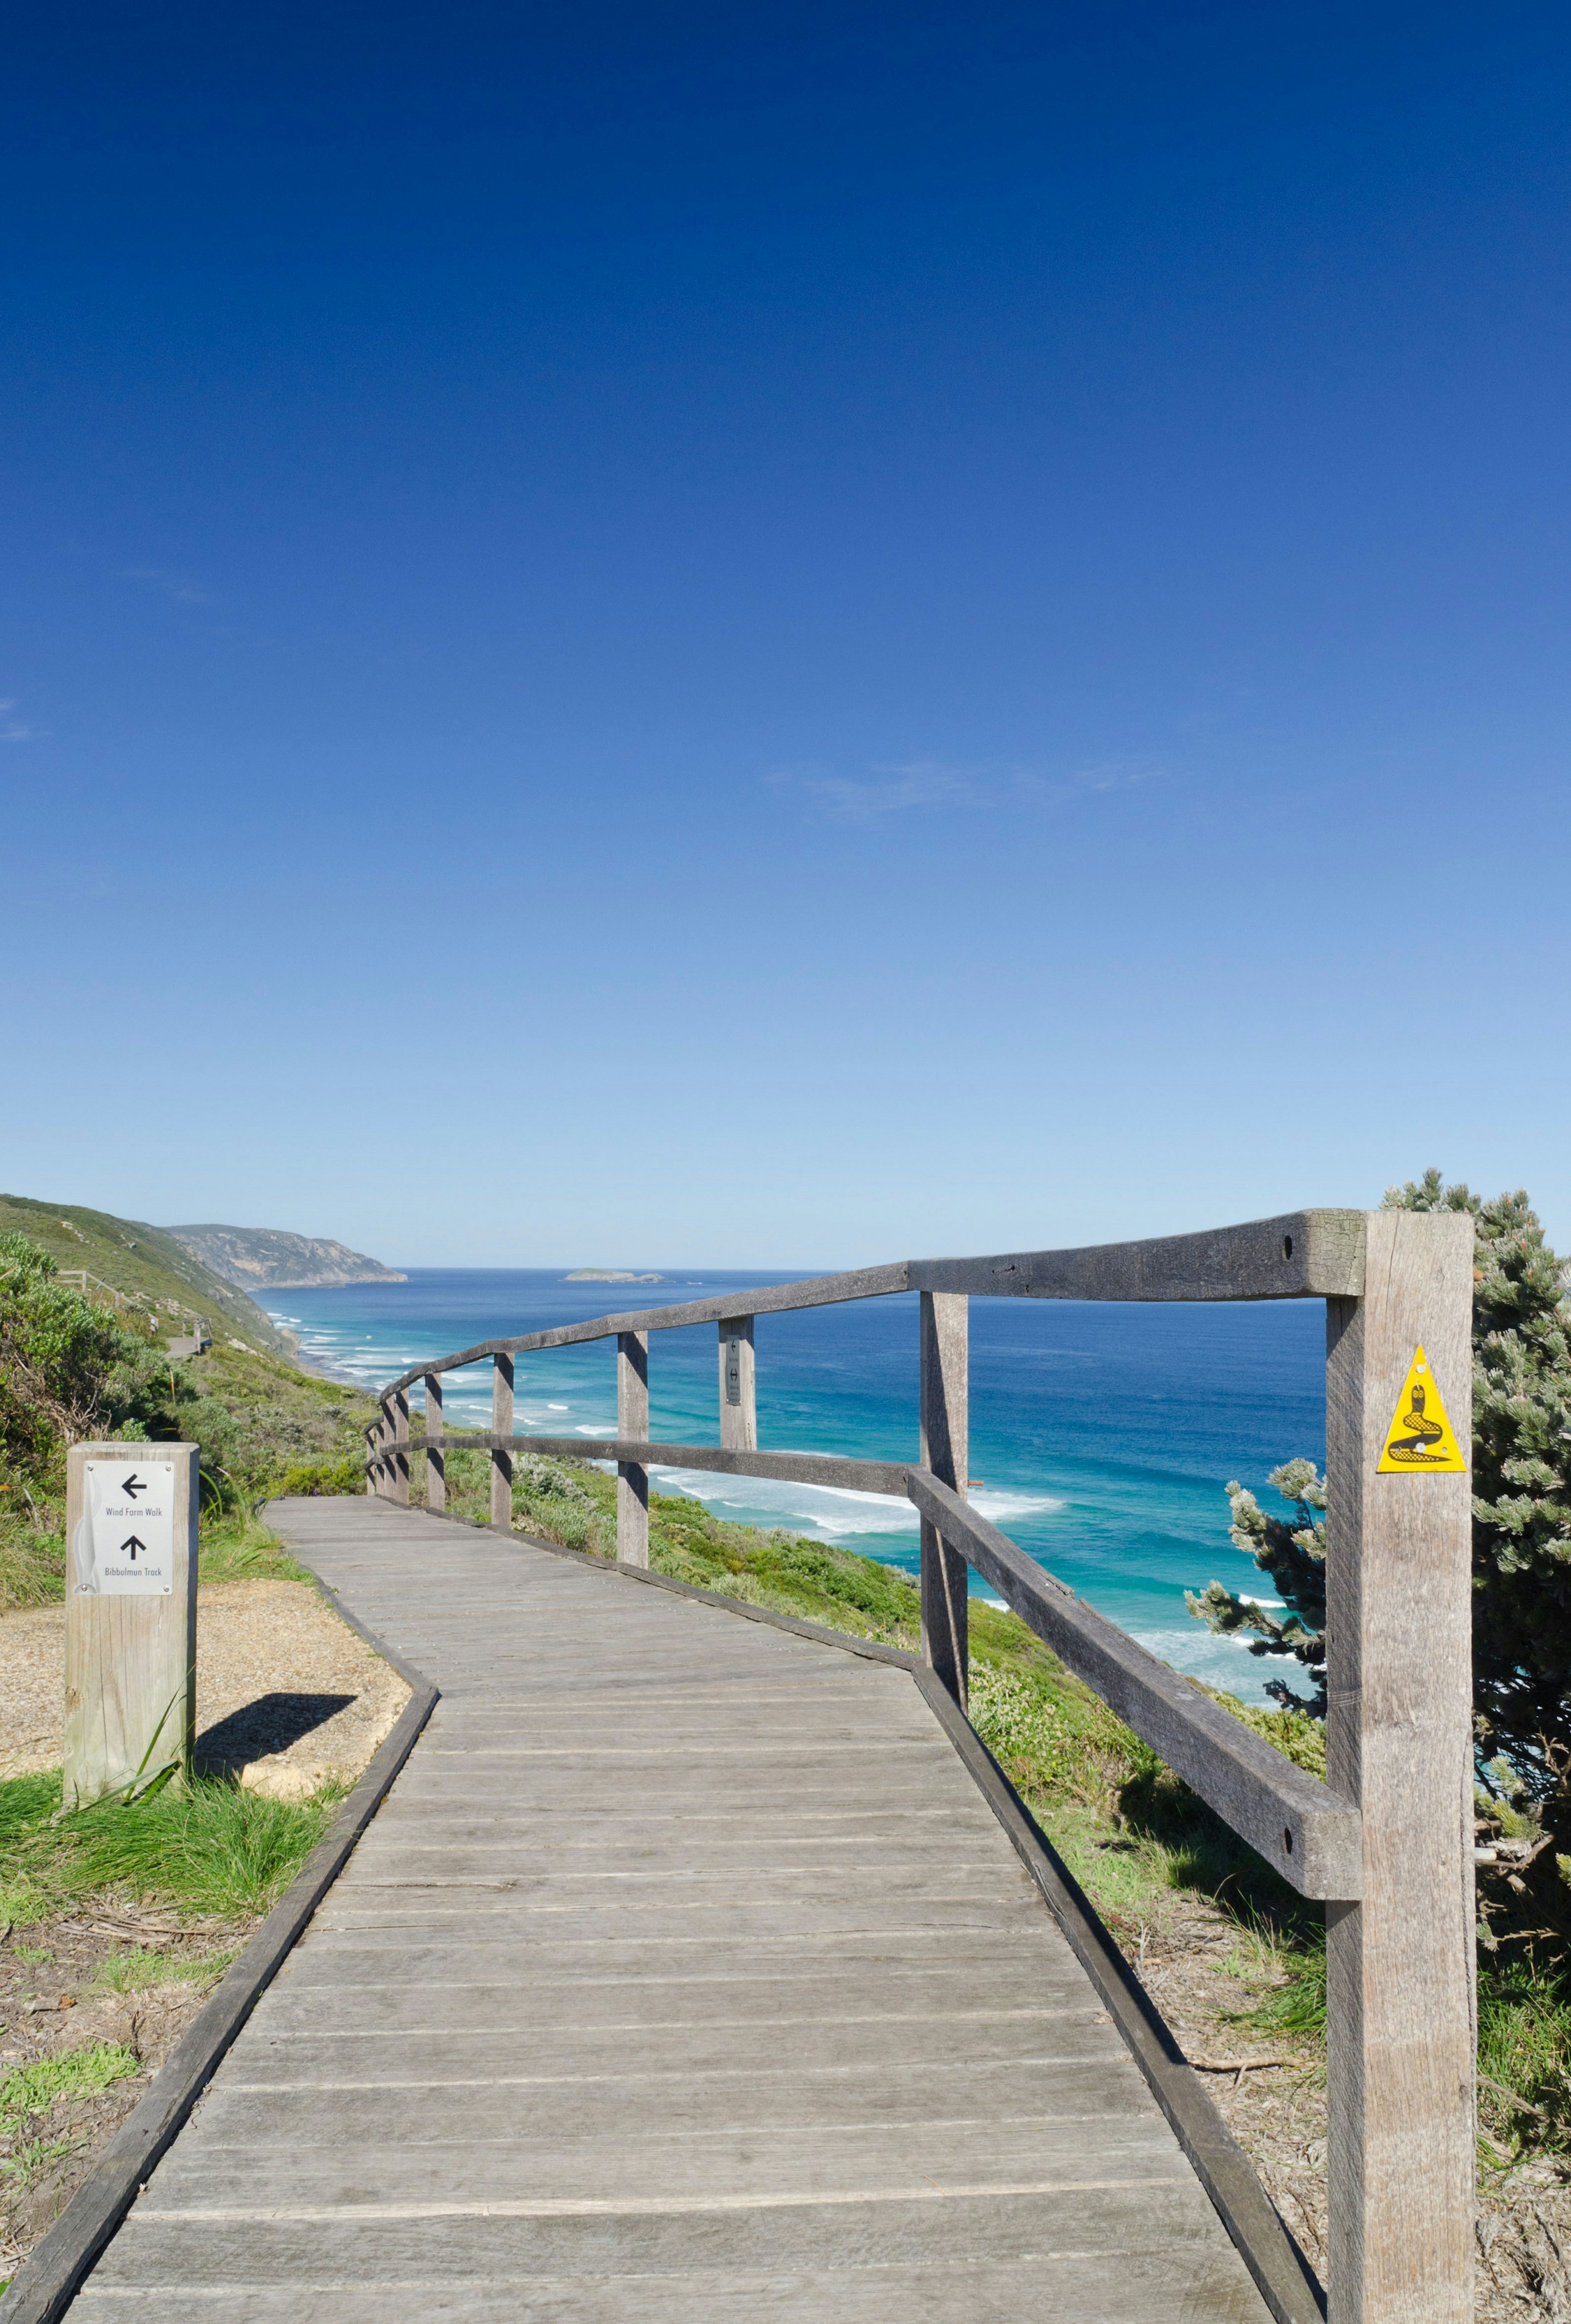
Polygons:
<instances>
[{"instance_id":1,"label":"bare wood of the short signpost, excluding its white arrow plaque","mask_svg":"<svg viewBox=\"0 0 1571 2324\"><path fill-rule=\"evenodd\" d=\"M77 1587L84 1473L93 1459L174 1466L170 1597L98 1597ZM195 1741L195 1587L200 1455L195 1446L81 1443L65 1464L65 1806L86 1806L165 1766L191 1771Z\"/></svg>"}]
</instances>

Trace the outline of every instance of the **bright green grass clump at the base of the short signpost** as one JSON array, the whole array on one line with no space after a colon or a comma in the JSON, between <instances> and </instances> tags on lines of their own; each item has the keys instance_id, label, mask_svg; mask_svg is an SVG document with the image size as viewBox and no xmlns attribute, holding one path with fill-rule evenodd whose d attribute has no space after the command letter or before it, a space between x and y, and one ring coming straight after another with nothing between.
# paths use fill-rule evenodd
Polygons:
<instances>
[{"instance_id":1,"label":"bright green grass clump at the base of the short signpost","mask_svg":"<svg viewBox=\"0 0 1571 2324\"><path fill-rule=\"evenodd\" d=\"M16 1776L0 1783L0 1922L28 1927L91 1894L163 1903L188 1920L256 1920L335 1806L332 1789L295 1806L198 1776L184 1792L58 1817L58 1773Z\"/></svg>"}]
</instances>

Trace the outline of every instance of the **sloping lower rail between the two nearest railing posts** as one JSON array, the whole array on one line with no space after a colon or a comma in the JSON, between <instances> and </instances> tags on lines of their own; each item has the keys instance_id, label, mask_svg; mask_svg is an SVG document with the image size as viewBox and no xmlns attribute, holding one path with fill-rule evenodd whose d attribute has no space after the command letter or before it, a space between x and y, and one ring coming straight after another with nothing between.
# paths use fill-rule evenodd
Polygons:
<instances>
[{"instance_id":1,"label":"sloping lower rail between the two nearest railing posts","mask_svg":"<svg viewBox=\"0 0 1571 2324\"><path fill-rule=\"evenodd\" d=\"M1283 1759L1167 1662L1085 1606L1046 1566L920 1469L909 1494L1136 1736L1167 1759L1301 1896L1357 1896L1357 1808Z\"/></svg>"}]
</instances>

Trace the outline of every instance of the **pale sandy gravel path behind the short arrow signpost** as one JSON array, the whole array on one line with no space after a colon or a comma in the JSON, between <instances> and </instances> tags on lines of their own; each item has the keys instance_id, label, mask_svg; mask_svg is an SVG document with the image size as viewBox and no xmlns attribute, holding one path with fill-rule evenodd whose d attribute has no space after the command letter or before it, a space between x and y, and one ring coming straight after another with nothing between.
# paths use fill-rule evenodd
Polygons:
<instances>
[{"instance_id":1,"label":"pale sandy gravel path behind the short arrow signpost","mask_svg":"<svg viewBox=\"0 0 1571 2324\"><path fill-rule=\"evenodd\" d=\"M353 1780L409 1687L307 1583L198 1592L198 1766L304 1799ZM0 1780L58 1766L65 1608L0 1615Z\"/></svg>"}]
</instances>

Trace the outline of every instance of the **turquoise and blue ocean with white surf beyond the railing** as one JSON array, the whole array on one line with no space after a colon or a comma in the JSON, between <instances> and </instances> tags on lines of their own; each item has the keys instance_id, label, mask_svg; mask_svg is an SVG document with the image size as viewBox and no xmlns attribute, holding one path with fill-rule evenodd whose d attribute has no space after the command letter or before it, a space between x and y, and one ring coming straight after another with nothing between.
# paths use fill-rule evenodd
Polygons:
<instances>
[{"instance_id":1,"label":"turquoise and blue ocean with white surf beyond the railing","mask_svg":"<svg viewBox=\"0 0 1571 2324\"><path fill-rule=\"evenodd\" d=\"M307 1362L379 1387L421 1360L616 1308L667 1306L790 1276L562 1283L535 1269L414 1269L407 1283L272 1292ZM916 1457L916 1297L760 1315L767 1450ZM718 1443L716 1329L655 1332L651 1434ZM490 1420L490 1364L449 1373L460 1427ZM518 1432L614 1436L614 1348L518 1357ZM1192 1622L1208 1580L1269 1587L1227 1538L1227 1478L1271 1506L1267 1469L1325 1455L1325 1308L971 1301L971 1499L1032 1557L1183 1671L1262 1699L1269 1666ZM916 1511L878 1494L660 1471L746 1525L788 1525L916 1571ZM978 1592L985 1587L976 1583Z\"/></svg>"}]
</instances>

